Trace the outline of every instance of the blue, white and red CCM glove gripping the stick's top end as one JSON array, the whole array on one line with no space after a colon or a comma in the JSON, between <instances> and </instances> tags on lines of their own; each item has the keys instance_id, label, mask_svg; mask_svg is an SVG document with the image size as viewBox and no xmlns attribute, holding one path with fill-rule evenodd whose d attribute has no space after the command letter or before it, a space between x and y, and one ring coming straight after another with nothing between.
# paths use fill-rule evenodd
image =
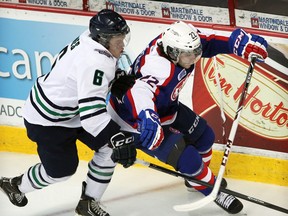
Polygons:
<instances>
[{"instance_id":1,"label":"blue, white and red CCM glove gripping the stick's top end","mask_svg":"<svg viewBox=\"0 0 288 216\"><path fill-rule=\"evenodd\" d=\"M268 53L267 41L255 34L248 34L243 29L236 29L229 38L229 46L234 54L251 61L252 55L257 56L258 62L264 62Z\"/></svg>"}]
</instances>

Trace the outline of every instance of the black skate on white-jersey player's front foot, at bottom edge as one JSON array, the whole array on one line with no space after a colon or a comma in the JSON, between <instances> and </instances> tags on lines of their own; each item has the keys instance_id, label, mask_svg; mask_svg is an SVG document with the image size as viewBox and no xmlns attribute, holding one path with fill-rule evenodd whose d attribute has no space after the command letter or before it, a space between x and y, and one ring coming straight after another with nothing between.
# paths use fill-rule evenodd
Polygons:
<instances>
[{"instance_id":1,"label":"black skate on white-jersey player's front foot, at bottom edge","mask_svg":"<svg viewBox=\"0 0 288 216\"><path fill-rule=\"evenodd\" d=\"M85 195L86 182L82 185L82 195L75 209L76 215L82 216L110 216L100 207L100 202Z\"/></svg>"}]
</instances>

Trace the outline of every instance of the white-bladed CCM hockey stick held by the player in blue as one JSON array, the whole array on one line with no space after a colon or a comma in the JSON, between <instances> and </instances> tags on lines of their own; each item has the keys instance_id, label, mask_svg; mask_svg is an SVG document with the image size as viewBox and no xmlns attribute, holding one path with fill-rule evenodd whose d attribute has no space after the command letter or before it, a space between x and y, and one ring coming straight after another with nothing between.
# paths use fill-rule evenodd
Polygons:
<instances>
[{"instance_id":1,"label":"white-bladed CCM hockey stick held by the player in blue","mask_svg":"<svg viewBox=\"0 0 288 216\"><path fill-rule=\"evenodd\" d=\"M223 175L225 172L226 164L228 161L228 156L229 156L229 153L231 151L231 147L232 147L232 144L234 141L236 130L238 128L240 115L241 115L242 109L244 107L244 101L245 101L247 90L248 90L248 87L249 87L249 84L250 84L250 81L252 78L252 74L253 74L254 65L256 63L256 60L257 60L257 57L252 56L250 66L248 68L248 72L247 72L246 79L244 82L245 85L243 86L243 90L242 90L242 94L241 94L241 97L239 100L238 108L236 110L236 114L235 114L235 117L234 117L234 120L232 123L231 131L230 131L227 143L226 143L224 155L222 158L222 163L221 163L221 166L220 166L220 169L219 169L219 172L218 172L218 175L217 175L217 178L216 178L212 192L208 196L206 196L205 198L200 199L196 202L189 203L189 204L183 204L183 205L176 205L176 206L174 206L174 210L176 210L176 211L193 211L195 209L202 208L203 206L209 204L210 202L214 201L217 198L217 195L218 195L218 192L220 189L220 184L221 184L221 181L222 181L222 178L223 178Z\"/></svg>"}]
</instances>

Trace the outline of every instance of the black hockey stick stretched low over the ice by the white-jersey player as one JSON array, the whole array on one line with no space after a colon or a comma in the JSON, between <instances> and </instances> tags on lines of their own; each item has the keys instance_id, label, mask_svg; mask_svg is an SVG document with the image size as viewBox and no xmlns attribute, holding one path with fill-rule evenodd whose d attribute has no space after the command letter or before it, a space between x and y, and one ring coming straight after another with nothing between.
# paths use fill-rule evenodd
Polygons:
<instances>
[{"instance_id":1,"label":"black hockey stick stretched low over the ice by the white-jersey player","mask_svg":"<svg viewBox=\"0 0 288 216\"><path fill-rule=\"evenodd\" d=\"M143 160L140 160L140 159L137 159L135 163L144 165L146 167L152 168L154 170L158 170L160 172L163 172L163 173L166 173L166 174L169 174L169 175L173 175L173 176L176 176L176 177L182 177L182 178L184 178L184 179L186 179L188 181L192 181L192 182L194 182L196 184L200 184L200 185L203 185L203 186L206 186L206 187L209 187L209 188L213 188L213 185L211 185L211 184L209 184L207 182L203 182L203 181L197 180L197 179L195 179L195 178L193 178L191 176L188 176L188 175L185 175L183 173L179 173L179 172L164 168L162 166L158 166L158 165L153 164L153 163L149 163L149 162L146 162L146 161L143 161ZM263 200L260 200L260 199L257 199L257 198L251 197L251 196L247 196L245 194L241 194L241 193L238 193L236 191L232 191L232 190L229 190L229 189L226 189L226 188L222 188L222 187L220 187L219 191L225 192L227 194L231 194L231 195L236 196L238 198L247 200L249 202L252 202L252 203L255 203L255 204L258 204L258 205L265 206L265 207L270 208L270 209L274 209L276 211L288 213L288 209L284 209L284 208L282 208L280 206L276 206L274 204L267 203L267 202L265 202Z\"/></svg>"}]
</instances>

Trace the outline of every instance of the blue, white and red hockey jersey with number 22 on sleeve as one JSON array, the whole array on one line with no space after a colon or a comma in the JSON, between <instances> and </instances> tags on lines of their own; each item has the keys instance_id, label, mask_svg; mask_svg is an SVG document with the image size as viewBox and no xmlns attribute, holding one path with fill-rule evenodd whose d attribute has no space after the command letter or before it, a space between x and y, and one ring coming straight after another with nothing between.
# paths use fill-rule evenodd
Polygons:
<instances>
[{"instance_id":1,"label":"blue, white and red hockey jersey with number 22 on sleeve","mask_svg":"<svg viewBox=\"0 0 288 216\"><path fill-rule=\"evenodd\" d=\"M200 31L199 36L203 58L232 53L229 36ZM177 113L179 93L194 71L194 65L185 69L170 61L161 52L159 40L161 35L153 39L132 64L129 73L136 75L137 80L123 100L111 96L109 101L115 113L134 129L137 128L138 114L145 109L156 111L162 125L172 123Z\"/></svg>"}]
</instances>

